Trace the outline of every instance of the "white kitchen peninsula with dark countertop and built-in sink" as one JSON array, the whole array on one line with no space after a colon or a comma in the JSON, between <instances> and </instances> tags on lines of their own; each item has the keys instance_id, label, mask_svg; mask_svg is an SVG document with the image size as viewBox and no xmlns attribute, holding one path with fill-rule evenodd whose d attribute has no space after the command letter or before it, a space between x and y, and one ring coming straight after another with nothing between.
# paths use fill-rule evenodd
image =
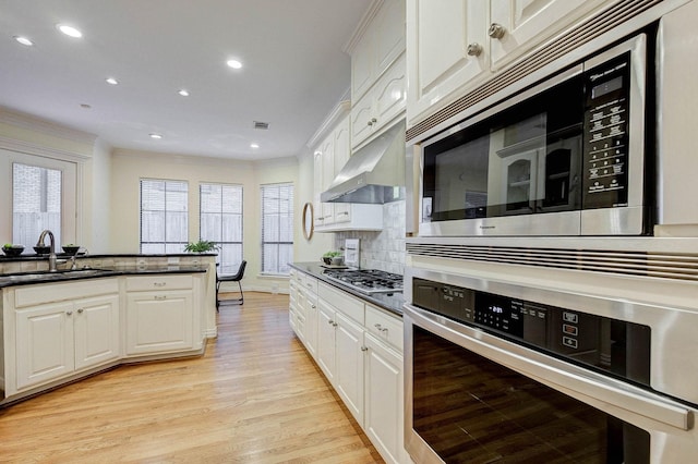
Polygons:
<instances>
[{"instance_id":1,"label":"white kitchen peninsula with dark countertop and built-in sink","mask_svg":"<svg viewBox=\"0 0 698 464\"><path fill-rule=\"evenodd\" d=\"M215 255L89 256L55 272L45 261L1 262L24 270L0 274L0 405L120 364L201 355L217 333Z\"/></svg>"}]
</instances>

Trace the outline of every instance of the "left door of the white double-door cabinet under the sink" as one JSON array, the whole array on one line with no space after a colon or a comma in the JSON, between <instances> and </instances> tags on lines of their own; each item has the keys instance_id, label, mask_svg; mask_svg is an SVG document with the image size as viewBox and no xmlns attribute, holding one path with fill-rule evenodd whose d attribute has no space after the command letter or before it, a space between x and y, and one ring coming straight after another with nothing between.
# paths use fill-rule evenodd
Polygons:
<instances>
[{"instance_id":1,"label":"left door of the white double-door cabinet under the sink","mask_svg":"<svg viewBox=\"0 0 698 464\"><path fill-rule=\"evenodd\" d=\"M17 390L75 369L74 316L72 302L16 312Z\"/></svg>"}]
</instances>

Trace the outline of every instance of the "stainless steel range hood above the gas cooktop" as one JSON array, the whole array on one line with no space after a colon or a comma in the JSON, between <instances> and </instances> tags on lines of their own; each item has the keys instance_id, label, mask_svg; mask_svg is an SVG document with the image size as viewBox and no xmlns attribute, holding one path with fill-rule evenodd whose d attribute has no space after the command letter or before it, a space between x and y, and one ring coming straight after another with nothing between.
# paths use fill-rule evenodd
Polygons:
<instances>
[{"instance_id":1,"label":"stainless steel range hood above the gas cooktop","mask_svg":"<svg viewBox=\"0 0 698 464\"><path fill-rule=\"evenodd\" d=\"M405 149L401 121L354 152L320 200L383 204L405 198Z\"/></svg>"}]
</instances>

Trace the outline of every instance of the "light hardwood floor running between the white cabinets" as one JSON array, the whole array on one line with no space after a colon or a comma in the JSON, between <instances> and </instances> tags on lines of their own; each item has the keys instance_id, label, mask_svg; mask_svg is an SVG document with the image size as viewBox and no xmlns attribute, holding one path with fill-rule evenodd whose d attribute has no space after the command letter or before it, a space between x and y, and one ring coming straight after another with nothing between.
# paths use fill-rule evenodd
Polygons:
<instances>
[{"instance_id":1,"label":"light hardwood floor running between the white cabinets","mask_svg":"<svg viewBox=\"0 0 698 464\"><path fill-rule=\"evenodd\" d=\"M288 323L221 306L203 357L122 366L0 408L0 462L383 462Z\"/></svg>"}]
</instances>

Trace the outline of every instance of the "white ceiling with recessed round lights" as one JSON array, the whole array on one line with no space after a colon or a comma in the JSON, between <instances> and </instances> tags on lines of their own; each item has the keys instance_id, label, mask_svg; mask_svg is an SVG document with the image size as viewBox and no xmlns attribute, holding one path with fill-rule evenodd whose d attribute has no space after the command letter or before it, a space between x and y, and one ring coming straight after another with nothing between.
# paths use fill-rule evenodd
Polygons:
<instances>
[{"instance_id":1,"label":"white ceiling with recessed round lights","mask_svg":"<svg viewBox=\"0 0 698 464\"><path fill-rule=\"evenodd\" d=\"M349 88L346 46L371 3L0 0L0 107L115 148L296 156ZM83 38L62 35L58 23ZM230 58L244 68L228 68ZM108 85L110 76L119 85ZM179 96L180 88L191 95ZM268 131L254 121L268 122Z\"/></svg>"}]
</instances>

